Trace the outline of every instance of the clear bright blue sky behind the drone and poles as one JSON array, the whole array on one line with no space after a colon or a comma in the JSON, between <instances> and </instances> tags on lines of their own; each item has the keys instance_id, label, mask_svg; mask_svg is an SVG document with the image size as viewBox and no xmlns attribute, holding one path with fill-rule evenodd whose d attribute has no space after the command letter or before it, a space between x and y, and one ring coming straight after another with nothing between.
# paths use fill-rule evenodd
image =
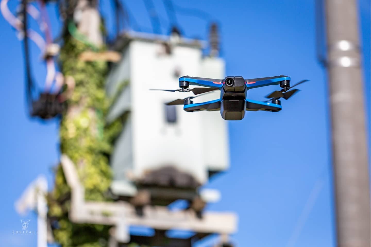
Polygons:
<instances>
[{"instance_id":1,"label":"clear bright blue sky behind the drone and poles","mask_svg":"<svg viewBox=\"0 0 371 247\"><path fill-rule=\"evenodd\" d=\"M142 30L151 31L143 2L126 2ZM247 112L242 121L229 123L231 168L206 185L222 194L208 209L239 214L239 231L233 236L239 246L335 246L328 91L325 71L316 61L313 1L176 2L219 21L227 75L285 74L293 82L311 80L283 102L279 113ZM110 24L108 3L102 0L101 5ZM160 0L154 3L165 33L164 6ZM14 11L16 1L9 6ZM49 14L56 37L60 26L54 6ZM359 0L359 14L370 148L370 1ZM177 20L185 36L207 39L207 21L181 12ZM3 17L0 28L0 238L3 246L35 246L36 236L12 234L20 227L19 219L31 219L30 228L36 229L35 214L19 216L14 201L39 174L52 186L51 168L59 156L58 123L26 116L21 43ZM36 47L32 49L35 78L43 81L45 66L39 63ZM272 90L251 90L249 97L260 100Z\"/></svg>"}]
</instances>

